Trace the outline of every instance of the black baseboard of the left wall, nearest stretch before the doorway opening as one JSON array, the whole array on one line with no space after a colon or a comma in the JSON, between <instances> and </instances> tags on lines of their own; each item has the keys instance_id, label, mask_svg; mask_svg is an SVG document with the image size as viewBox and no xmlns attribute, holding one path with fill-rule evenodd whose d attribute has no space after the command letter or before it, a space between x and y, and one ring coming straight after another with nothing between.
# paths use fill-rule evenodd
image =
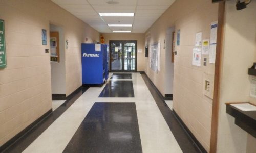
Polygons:
<instances>
[{"instance_id":1,"label":"black baseboard of the left wall, nearest stretch before the doorway opening","mask_svg":"<svg viewBox=\"0 0 256 153\"><path fill-rule=\"evenodd\" d=\"M16 142L18 139L22 138L23 136L26 135L26 133L28 133L30 130L32 130L35 126L37 126L37 124L39 122L41 122L42 120L44 120L48 115L50 115L52 113L52 109L50 109L49 111L47 111L44 115L42 115L41 117L39 117L38 119L36 119L33 123L31 123L30 125L28 125L23 131L19 132L18 134L16 134L14 137L12 137L10 140L8 140L6 143L4 143L1 147L0 147L0 152L4 151L5 149L7 149L9 146L11 146L14 142Z\"/></svg>"}]
</instances>

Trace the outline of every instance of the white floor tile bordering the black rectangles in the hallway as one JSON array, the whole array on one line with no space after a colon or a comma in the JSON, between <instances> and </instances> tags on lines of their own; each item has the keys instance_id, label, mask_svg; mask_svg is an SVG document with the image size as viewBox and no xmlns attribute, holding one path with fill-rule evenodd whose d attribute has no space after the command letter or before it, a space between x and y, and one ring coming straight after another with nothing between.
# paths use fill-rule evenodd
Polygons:
<instances>
[{"instance_id":1,"label":"white floor tile bordering the black rectangles in the hallway","mask_svg":"<svg viewBox=\"0 0 256 153\"><path fill-rule=\"evenodd\" d=\"M62 152L94 102L135 102L143 152L182 152L141 74L132 77L134 98L98 98L104 86L89 88L24 152Z\"/></svg>"}]
</instances>

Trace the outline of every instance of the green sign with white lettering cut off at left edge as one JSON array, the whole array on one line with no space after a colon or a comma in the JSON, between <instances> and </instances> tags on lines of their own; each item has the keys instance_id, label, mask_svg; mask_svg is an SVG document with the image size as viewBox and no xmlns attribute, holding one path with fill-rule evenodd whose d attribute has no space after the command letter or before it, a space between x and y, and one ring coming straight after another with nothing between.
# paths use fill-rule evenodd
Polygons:
<instances>
[{"instance_id":1,"label":"green sign with white lettering cut off at left edge","mask_svg":"<svg viewBox=\"0 0 256 153\"><path fill-rule=\"evenodd\" d=\"M5 22L0 19L0 68L6 67Z\"/></svg>"}]
</instances>

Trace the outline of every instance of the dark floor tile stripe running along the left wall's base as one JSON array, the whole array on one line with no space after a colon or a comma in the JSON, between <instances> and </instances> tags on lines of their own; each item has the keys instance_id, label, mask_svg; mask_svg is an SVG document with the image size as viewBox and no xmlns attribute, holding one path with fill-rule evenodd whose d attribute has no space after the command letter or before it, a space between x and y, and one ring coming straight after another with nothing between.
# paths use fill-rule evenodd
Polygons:
<instances>
[{"instance_id":1,"label":"dark floor tile stripe running along the left wall's base","mask_svg":"<svg viewBox=\"0 0 256 153\"><path fill-rule=\"evenodd\" d=\"M60 115L62 115L86 90L87 87L79 87L76 91L67 97L67 100L60 105L51 114L43 118L39 123L34 125L22 137L16 138L15 142L8 144L2 152L22 152L37 137L39 137ZM4 146L4 145L3 145ZM2 146L1 146L2 147Z\"/></svg>"}]
</instances>

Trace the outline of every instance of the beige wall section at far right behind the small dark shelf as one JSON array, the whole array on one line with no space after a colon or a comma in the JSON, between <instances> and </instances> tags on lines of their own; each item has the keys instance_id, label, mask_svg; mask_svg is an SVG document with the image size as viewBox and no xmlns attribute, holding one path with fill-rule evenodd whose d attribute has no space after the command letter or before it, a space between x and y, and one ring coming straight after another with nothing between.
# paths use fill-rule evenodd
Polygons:
<instances>
[{"instance_id":1,"label":"beige wall section at far right behind the small dark shelf","mask_svg":"<svg viewBox=\"0 0 256 153\"><path fill-rule=\"evenodd\" d=\"M254 104L249 96L248 68L256 61L256 2L237 11L236 1L226 1L224 45L222 52L221 84L217 152L255 152L256 139L239 126L226 113L226 102Z\"/></svg>"}]
</instances>

